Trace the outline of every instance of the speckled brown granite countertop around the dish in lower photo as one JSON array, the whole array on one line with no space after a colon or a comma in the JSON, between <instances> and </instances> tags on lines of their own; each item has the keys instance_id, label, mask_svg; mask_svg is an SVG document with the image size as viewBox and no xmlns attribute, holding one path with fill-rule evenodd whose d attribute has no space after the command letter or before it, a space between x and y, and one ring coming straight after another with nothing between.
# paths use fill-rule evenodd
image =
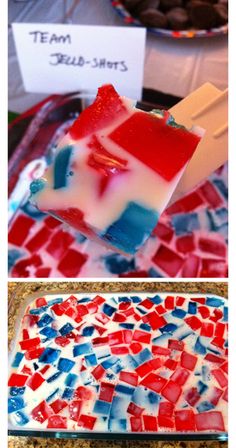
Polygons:
<instances>
[{"instance_id":1,"label":"speckled brown granite countertop around the dish in lower photo","mask_svg":"<svg viewBox=\"0 0 236 448\"><path fill-rule=\"evenodd\" d=\"M40 291L169 291L169 292L199 292L212 293L227 297L226 282L9 282L9 341L14 335L17 307L24 299ZM9 448L227 448L227 442L156 442L156 441L103 441L103 440L70 440L43 439L40 437L8 438Z\"/></svg>"}]
</instances>

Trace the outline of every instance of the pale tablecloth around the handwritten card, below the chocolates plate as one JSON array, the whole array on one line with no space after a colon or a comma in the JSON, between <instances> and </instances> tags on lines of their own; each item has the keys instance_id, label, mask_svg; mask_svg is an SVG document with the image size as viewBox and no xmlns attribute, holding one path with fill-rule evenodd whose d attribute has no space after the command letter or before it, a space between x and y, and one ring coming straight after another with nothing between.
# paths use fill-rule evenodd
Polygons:
<instances>
[{"instance_id":1,"label":"pale tablecloth around the handwritten card, below the chocolates plate","mask_svg":"<svg viewBox=\"0 0 236 448\"><path fill-rule=\"evenodd\" d=\"M74 3L74 24L126 26L109 0L67 0L67 10ZM9 24L65 23L64 4L64 0L9 0ZM207 81L223 90L228 84L227 68L227 36L173 39L147 35L145 87L180 97ZM24 91L9 26L9 109L23 112L46 96Z\"/></svg>"}]
</instances>

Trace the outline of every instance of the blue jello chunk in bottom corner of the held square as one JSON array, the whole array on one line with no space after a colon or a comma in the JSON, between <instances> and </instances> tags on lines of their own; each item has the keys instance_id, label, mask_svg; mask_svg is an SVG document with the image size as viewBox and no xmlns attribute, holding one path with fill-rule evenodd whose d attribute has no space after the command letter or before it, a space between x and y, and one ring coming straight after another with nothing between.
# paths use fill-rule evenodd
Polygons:
<instances>
[{"instance_id":1,"label":"blue jello chunk in bottom corner of the held square","mask_svg":"<svg viewBox=\"0 0 236 448\"><path fill-rule=\"evenodd\" d=\"M102 238L128 254L134 254L149 237L159 218L156 210L129 202L117 221L111 224Z\"/></svg>"}]
</instances>

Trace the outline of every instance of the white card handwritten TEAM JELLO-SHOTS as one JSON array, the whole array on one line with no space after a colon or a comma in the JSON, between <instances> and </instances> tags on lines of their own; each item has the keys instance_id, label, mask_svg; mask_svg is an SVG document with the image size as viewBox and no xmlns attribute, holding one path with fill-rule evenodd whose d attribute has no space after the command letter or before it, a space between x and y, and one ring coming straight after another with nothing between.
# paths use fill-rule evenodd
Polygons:
<instances>
[{"instance_id":1,"label":"white card handwritten TEAM JELLO-SHOTS","mask_svg":"<svg viewBox=\"0 0 236 448\"><path fill-rule=\"evenodd\" d=\"M141 99L145 28L13 23L27 92L96 92L111 83Z\"/></svg>"}]
</instances>

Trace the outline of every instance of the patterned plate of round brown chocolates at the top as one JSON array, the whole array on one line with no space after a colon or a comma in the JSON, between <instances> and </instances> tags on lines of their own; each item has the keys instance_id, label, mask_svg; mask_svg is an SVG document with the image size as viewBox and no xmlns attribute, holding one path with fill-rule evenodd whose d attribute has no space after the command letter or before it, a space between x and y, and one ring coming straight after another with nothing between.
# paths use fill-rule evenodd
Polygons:
<instances>
[{"instance_id":1,"label":"patterned plate of round brown chocolates at the top","mask_svg":"<svg viewBox=\"0 0 236 448\"><path fill-rule=\"evenodd\" d=\"M228 32L228 0L111 0L125 23L159 36L209 37Z\"/></svg>"}]
</instances>

